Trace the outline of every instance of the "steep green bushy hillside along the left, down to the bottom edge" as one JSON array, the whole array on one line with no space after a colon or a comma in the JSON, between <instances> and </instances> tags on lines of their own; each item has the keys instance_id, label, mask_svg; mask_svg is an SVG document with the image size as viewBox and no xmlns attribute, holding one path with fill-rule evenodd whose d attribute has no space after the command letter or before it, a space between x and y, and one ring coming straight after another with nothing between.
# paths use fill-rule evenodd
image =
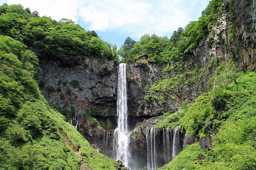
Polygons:
<instances>
[{"instance_id":1,"label":"steep green bushy hillside along the left, down to the bottom edge","mask_svg":"<svg viewBox=\"0 0 256 170\"><path fill-rule=\"evenodd\" d=\"M77 170L81 162L61 131L81 147L85 163L99 170L116 169L116 161L93 149L49 107L33 79L38 61L20 41L0 35L0 169Z\"/></svg>"}]
</instances>

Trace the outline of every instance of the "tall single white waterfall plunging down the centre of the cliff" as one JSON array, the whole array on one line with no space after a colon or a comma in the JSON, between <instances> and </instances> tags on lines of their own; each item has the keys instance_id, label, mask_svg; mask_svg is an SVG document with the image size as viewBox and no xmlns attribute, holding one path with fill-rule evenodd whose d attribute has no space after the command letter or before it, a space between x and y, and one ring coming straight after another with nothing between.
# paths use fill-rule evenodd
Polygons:
<instances>
[{"instance_id":1,"label":"tall single white waterfall plunging down the centre of the cliff","mask_svg":"<svg viewBox=\"0 0 256 170\"><path fill-rule=\"evenodd\" d=\"M119 64L117 85L117 128L114 132L114 157L121 160L125 166L129 165L131 151L127 124L127 97L126 97L126 64Z\"/></svg>"}]
</instances>

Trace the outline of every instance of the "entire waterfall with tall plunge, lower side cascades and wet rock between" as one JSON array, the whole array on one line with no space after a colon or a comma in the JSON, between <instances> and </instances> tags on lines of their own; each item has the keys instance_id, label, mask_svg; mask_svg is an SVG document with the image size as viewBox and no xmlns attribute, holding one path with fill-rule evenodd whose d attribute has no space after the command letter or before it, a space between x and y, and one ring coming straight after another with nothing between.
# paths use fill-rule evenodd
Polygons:
<instances>
[{"instance_id":1,"label":"entire waterfall with tall plunge, lower side cascades and wet rock between","mask_svg":"<svg viewBox=\"0 0 256 170\"><path fill-rule=\"evenodd\" d=\"M131 170L155 170L170 162L181 150L183 135L175 129L156 128L152 119L128 118L126 92L126 64L121 63L118 70L117 85L117 127L116 129L88 130L79 122L80 117L72 117L70 123L78 131L89 131L87 138L103 154L123 162ZM86 121L85 121L86 122ZM132 124L133 122L133 124ZM138 123L138 126L134 125ZM82 130L84 128L84 130ZM134 128L132 130L132 128ZM87 130L86 130L87 129ZM86 135L85 135L86 136Z\"/></svg>"}]
</instances>

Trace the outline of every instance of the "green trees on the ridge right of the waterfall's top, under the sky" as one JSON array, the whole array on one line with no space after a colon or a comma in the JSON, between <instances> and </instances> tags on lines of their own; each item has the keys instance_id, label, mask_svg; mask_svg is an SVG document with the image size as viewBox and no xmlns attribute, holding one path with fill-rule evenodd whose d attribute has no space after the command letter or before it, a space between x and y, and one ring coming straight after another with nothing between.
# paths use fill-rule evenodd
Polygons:
<instances>
[{"instance_id":1,"label":"green trees on the ridge right of the waterfall's top, under the sky","mask_svg":"<svg viewBox=\"0 0 256 170\"><path fill-rule=\"evenodd\" d=\"M216 23L220 9L221 0L210 1L197 21L190 22L185 30L179 28L174 31L170 39L158 37L156 34L151 36L145 34L140 41L129 48L124 43L124 46L118 51L119 55L123 57L122 62L133 62L138 60L140 55L147 55L149 62L156 62L159 65L164 63L172 68L180 65L181 68L186 67L184 61L191 59L193 50L208 33L212 23Z\"/></svg>"}]
</instances>

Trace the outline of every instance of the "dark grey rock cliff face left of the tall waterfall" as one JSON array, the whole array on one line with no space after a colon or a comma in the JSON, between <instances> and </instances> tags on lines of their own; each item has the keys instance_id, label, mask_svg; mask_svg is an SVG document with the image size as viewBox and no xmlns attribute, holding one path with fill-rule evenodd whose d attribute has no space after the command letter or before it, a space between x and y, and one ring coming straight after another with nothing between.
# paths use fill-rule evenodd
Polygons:
<instances>
[{"instance_id":1,"label":"dark grey rock cliff face left of the tall waterfall","mask_svg":"<svg viewBox=\"0 0 256 170\"><path fill-rule=\"evenodd\" d=\"M113 60L85 59L76 67L41 61L40 89L46 100L67 115L86 112L116 116L117 70ZM89 110L88 110L89 109Z\"/></svg>"}]
</instances>

